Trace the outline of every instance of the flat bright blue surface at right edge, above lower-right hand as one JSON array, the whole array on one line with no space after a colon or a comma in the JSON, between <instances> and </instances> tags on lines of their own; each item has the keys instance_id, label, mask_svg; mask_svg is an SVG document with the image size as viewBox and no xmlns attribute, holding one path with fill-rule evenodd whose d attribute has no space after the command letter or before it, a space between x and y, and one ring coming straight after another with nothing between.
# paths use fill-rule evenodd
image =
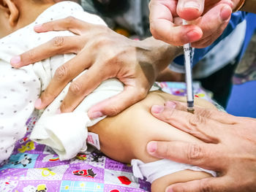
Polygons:
<instances>
[{"instance_id":1,"label":"flat bright blue surface at right edge, above lower-right hand","mask_svg":"<svg viewBox=\"0 0 256 192\"><path fill-rule=\"evenodd\" d=\"M233 85L226 110L232 115L256 118L256 81Z\"/></svg>"}]
</instances>

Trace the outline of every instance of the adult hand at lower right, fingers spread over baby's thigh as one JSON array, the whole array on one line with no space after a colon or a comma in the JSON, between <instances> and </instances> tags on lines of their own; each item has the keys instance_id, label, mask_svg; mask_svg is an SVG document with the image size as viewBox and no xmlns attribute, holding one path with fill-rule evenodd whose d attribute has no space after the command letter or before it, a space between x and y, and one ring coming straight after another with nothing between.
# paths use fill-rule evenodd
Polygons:
<instances>
[{"instance_id":1,"label":"adult hand at lower right, fingers spread over baby's thigh","mask_svg":"<svg viewBox=\"0 0 256 192\"><path fill-rule=\"evenodd\" d=\"M195 115L185 112L184 104L168 101L153 106L151 113L166 123L201 139L187 142L149 142L148 153L193 164L219 173L219 177L170 185L167 191L255 191L256 120L195 107Z\"/></svg>"}]
</instances>

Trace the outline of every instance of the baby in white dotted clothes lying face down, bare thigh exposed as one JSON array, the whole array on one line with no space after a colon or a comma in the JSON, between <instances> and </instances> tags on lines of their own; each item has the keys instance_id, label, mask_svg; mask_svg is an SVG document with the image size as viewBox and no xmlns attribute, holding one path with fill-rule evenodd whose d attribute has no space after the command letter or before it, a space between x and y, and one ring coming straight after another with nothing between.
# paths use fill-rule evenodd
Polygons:
<instances>
[{"instance_id":1,"label":"baby in white dotted clothes lying face down, bare thigh exposed","mask_svg":"<svg viewBox=\"0 0 256 192\"><path fill-rule=\"evenodd\" d=\"M10 59L37 45L59 36L73 36L68 31L50 31L37 34L34 26L50 20L72 16L88 23L105 25L96 15L83 12L82 7L71 1L54 4L50 0L2 0L0 1L0 161L12 153L15 142L26 133L26 120L34 111L34 102L45 90L53 74L61 64L69 61L74 54L57 55L44 61L13 69ZM32 55L31 55L32 56ZM99 136L103 153L117 161L131 163L136 177L147 177L153 192L165 191L167 185L187 182L203 177L215 176L215 172L197 166L159 160L146 153L146 144L151 140L200 140L168 125L150 113L153 104L185 99L172 96L158 88L151 88L146 99L134 104L112 118L90 120L86 111L93 104L107 99L123 90L116 79L106 80L84 99L74 112L58 114L61 100L67 89L44 111L31 133L31 139L48 145L58 153L61 160L74 157L86 150L87 128ZM200 107L214 108L204 100L196 100ZM100 121L99 121L100 120ZM195 172L197 171L197 172Z\"/></svg>"}]
</instances>

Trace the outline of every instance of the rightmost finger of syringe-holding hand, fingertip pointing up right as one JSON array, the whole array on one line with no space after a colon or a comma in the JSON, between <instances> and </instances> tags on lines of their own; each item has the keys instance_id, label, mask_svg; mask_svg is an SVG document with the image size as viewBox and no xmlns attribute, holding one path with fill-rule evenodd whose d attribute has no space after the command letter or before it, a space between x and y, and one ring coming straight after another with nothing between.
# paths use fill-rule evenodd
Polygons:
<instances>
[{"instance_id":1,"label":"rightmost finger of syringe-holding hand, fingertip pointing up right","mask_svg":"<svg viewBox=\"0 0 256 192\"><path fill-rule=\"evenodd\" d=\"M231 13L232 9L229 5L219 4L206 12L196 23L193 23L202 29L203 38L192 42L192 47L202 48L211 45L226 28Z\"/></svg>"}]
</instances>

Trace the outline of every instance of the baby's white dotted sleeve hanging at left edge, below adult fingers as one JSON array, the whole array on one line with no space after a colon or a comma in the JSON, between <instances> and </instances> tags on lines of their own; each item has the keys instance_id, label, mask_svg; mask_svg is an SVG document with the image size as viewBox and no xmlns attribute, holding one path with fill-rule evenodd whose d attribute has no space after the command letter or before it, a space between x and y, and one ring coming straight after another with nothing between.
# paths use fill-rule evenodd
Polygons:
<instances>
[{"instance_id":1,"label":"baby's white dotted sleeve hanging at left edge, below adult fingers","mask_svg":"<svg viewBox=\"0 0 256 192\"><path fill-rule=\"evenodd\" d=\"M13 69L0 59L0 164L26 134L26 120L39 96L40 82L29 69Z\"/></svg>"}]
</instances>

